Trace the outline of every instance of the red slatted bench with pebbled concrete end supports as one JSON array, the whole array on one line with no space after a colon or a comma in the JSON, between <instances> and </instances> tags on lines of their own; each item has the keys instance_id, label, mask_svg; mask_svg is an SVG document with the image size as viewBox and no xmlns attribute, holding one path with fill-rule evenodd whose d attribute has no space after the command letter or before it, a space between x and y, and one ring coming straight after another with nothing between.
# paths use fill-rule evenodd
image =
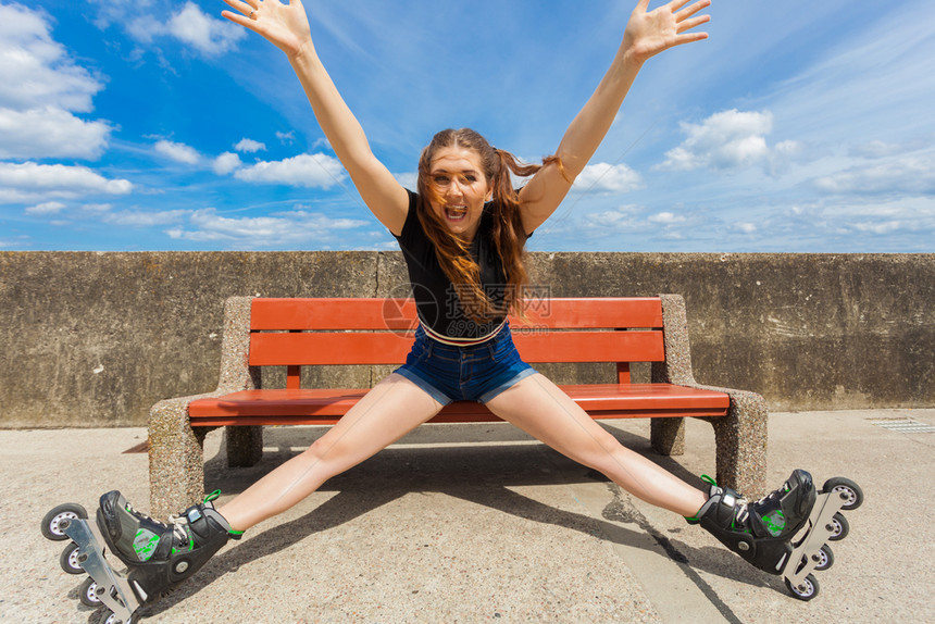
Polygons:
<instances>
[{"instance_id":1,"label":"red slatted bench with pebbled concrete end supports","mask_svg":"<svg viewBox=\"0 0 935 624\"><path fill-rule=\"evenodd\" d=\"M765 403L751 392L695 382L681 297L550 299L511 325L529 363L615 365L615 384L562 386L593 417L652 419L652 446L665 454L683 452L684 416L710 420L719 483L751 495L762 490ZM252 465L262 454L262 425L333 424L369 389L302 388L302 366L399 364L414 329L411 300L229 299L217 389L162 401L151 411L152 512L167 515L203 495L209 429L228 427L228 462ZM652 363L651 383L631 383L633 362ZM264 366L285 367L284 388L261 387ZM481 403L459 401L429 422L497 420Z\"/></svg>"}]
</instances>

